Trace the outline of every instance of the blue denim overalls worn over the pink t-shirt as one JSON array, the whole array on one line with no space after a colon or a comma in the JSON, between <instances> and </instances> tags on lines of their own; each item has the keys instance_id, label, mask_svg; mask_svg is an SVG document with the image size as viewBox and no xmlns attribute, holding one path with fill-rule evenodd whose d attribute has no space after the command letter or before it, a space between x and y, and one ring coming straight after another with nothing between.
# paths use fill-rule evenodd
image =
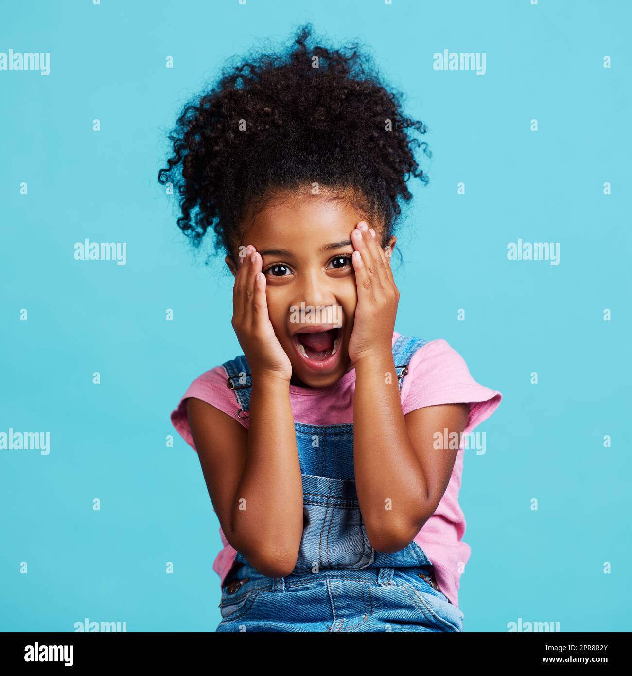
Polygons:
<instances>
[{"instance_id":1,"label":"blue denim overalls worn over the pink t-shirt","mask_svg":"<svg viewBox=\"0 0 632 676\"><path fill-rule=\"evenodd\" d=\"M427 341L399 336L397 384ZM245 356L223 364L247 417ZM303 537L295 569L266 577L239 552L222 586L216 631L462 631L463 613L441 592L433 564L411 542L376 552L366 536L354 481L354 425L295 423L303 481Z\"/></svg>"}]
</instances>

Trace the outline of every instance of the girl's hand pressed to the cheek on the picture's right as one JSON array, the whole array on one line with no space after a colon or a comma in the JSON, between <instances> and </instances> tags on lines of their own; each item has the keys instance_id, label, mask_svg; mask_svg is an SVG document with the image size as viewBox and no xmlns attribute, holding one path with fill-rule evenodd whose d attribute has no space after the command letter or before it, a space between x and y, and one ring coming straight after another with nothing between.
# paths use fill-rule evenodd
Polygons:
<instances>
[{"instance_id":1,"label":"girl's hand pressed to the cheek on the picture's right","mask_svg":"<svg viewBox=\"0 0 632 676\"><path fill-rule=\"evenodd\" d=\"M351 233L356 251L351 261L356 272L358 305L349 339L354 364L377 354L391 354L399 291L393 280L391 257L379 245L374 231L361 221Z\"/></svg>"}]
</instances>

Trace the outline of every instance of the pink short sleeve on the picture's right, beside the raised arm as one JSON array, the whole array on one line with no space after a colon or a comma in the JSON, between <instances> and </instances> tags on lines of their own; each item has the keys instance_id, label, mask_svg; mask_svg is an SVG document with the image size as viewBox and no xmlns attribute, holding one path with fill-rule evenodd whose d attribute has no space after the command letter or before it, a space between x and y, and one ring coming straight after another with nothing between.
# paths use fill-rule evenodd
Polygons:
<instances>
[{"instance_id":1,"label":"pink short sleeve on the picture's right, beside the raised arm","mask_svg":"<svg viewBox=\"0 0 632 676\"><path fill-rule=\"evenodd\" d=\"M498 408L502 394L479 385L464 359L445 340L429 341L415 352L402 381L404 415L424 406L469 404L472 431Z\"/></svg>"}]
</instances>

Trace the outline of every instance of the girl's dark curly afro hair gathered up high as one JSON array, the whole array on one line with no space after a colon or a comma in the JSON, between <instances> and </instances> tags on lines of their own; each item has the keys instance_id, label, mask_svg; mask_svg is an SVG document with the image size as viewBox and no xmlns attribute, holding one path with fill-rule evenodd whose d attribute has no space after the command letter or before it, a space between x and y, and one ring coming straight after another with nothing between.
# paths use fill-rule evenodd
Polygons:
<instances>
[{"instance_id":1,"label":"girl's dark curly afro hair gathered up high","mask_svg":"<svg viewBox=\"0 0 632 676\"><path fill-rule=\"evenodd\" d=\"M357 44L309 47L311 33L306 24L285 51L224 66L180 114L158 180L179 195L178 227L195 247L212 227L216 250L236 262L257 208L315 184L379 223L386 243L400 201L412 198L410 176L427 183L413 147L431 153L411 135L426 126L404 116L401 94L382 84Z\"/></svg>"}]
</instances>

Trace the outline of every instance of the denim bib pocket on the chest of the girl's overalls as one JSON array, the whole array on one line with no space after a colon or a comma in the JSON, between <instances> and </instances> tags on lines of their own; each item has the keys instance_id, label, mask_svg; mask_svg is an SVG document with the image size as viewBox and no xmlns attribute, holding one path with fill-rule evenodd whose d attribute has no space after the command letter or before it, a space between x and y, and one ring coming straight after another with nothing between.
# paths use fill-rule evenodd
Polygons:
<instances>
[{"instance_id":1,"label":"denim bib pocket on the chest of the girl's overalls","mask_svg":"<svg viewBox=\"0 0 632 676\"><path fill-rule=\"evenodd\" d=\"M356 494L356 482L301 475L303 536L293 575L318 568L366 568L375 559Z\"/></svg>"}]
</instances>

